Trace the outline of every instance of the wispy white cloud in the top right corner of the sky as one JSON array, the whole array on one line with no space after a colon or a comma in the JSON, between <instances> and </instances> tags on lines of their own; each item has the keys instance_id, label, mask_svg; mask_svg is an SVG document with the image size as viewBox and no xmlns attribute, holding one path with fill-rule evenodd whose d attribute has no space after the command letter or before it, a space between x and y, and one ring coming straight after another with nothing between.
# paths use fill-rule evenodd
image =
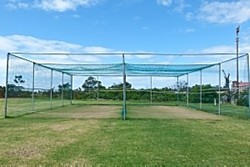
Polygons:
<instances>
[{"instance_id":1,"label":"wispy white cloud in the top right corner of the sky","mask_svg":"<svg viewBox=\"0 0 250 167\"><path fill-rule=\"evenodd\" d=\"M205 1L198 13L198 19L209 23L244 23L250 20L250 1Z\"/></svg>"}]
</instances>

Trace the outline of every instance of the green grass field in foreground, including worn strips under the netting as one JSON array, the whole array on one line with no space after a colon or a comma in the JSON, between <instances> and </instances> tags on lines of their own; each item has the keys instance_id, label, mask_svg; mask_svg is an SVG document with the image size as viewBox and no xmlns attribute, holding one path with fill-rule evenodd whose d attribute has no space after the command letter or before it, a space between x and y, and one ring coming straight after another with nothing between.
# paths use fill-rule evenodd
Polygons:
<instances>
[{"instance_id":1,"label":"green grass field in foreground, including worn strips under the netting","mask_svg":"<svg viewBox=\"0 0 250 167\"><path fill-rule=\"evenodd\" d=\"M0 164L248 166L249 127L177 106L131 105L126 121L120 105L65 106L0 118Z\"/></svg>"}]
</instances>

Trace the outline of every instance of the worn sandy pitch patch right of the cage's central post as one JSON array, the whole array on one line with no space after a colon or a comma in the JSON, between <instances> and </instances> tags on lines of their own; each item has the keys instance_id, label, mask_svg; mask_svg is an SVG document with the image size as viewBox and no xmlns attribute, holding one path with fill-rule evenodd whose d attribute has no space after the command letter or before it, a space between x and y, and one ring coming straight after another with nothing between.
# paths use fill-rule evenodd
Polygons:
<instances>
[{"instance_id":1,"label":"worn sandy pitch patch right of the cage's central post","mask_svg":"<svg viewBox=\"0 0 250 167\"><path fill-rule=\"evenodd\" d=\"M203 111L176 106L131 107L132 117L159 119L202 119L221 120L222 117Z\"/></svg>"}]
</instances>

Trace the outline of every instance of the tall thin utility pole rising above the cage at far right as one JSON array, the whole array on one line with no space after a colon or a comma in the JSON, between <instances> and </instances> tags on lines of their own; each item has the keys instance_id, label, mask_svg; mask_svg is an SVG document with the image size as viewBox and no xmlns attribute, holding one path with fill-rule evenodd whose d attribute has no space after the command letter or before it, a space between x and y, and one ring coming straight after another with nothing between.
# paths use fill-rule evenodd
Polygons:
<instances>
[{"instance_id":1,"label":"tall thin utility pole rising above the cage at far right","mask_svg":"<svg viewBox=\"0 0 250 167\"><path fill-rule=\"evenodd\" d=\"M237 96L240 98L239 91L239 32L240 26L236 28L236 86L237 86Z\"/></svg>"}]
</instances>

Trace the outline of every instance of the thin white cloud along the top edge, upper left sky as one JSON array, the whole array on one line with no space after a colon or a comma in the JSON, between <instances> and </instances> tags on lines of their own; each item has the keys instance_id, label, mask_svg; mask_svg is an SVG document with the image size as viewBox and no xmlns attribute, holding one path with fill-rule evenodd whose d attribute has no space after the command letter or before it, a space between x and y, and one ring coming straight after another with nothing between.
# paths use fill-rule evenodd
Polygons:
<instances>
[{"instance_id":1,"label":"thin white cloud along the top edge, upper left sky","mask_svg":"<svg viewBox=\"0 0 250 167\"><path fill-rule=\"evenodd\" d=\"M89 7L96 5L101 0L9 0L7 7L18 8L38 8L45 11L65 12L76 10L78 7Z\"/></svg>"}]
</instances>

